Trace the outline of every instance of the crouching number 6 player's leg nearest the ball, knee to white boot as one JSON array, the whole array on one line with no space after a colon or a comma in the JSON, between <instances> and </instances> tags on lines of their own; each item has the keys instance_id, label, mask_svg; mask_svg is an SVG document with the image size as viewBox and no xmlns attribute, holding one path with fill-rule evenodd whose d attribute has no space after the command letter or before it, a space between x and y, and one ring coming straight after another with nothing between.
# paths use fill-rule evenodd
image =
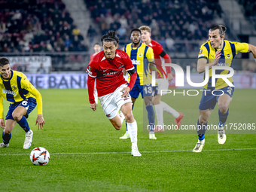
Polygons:
<instances>
[{"instance_id":1,"label":"crouching number 6 player's leg nearest the ball, knee to white boot","mask_svg":"<svg viewBox=\"0 0 256 192\"><path fill-rule=\"evenodd\" d=\"M32 144L32 138L33 138L33 132L32 132L32 130L30 130L29 123L26 120L26 117L24 116L24 115L26 115L26 113L27 113L26 108L24 108L23 106L18 106L17 108L15 108L15 110L12 114L12 116L14 117L14 120L16 120L16 122L26 132L25 142L23 145L24 149L30 148L30 146Z\"/></svg>"}]
</instances>

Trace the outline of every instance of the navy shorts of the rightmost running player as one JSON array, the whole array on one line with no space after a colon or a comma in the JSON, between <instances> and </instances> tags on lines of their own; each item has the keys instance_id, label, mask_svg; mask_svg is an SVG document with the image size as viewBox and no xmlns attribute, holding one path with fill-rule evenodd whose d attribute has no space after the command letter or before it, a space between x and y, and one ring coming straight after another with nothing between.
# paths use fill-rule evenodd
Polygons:
<instances>
[{"instance_id":1,"label":"navy shorts of the rightmost running player","mask_svg":"<svg viewBox=\"0 0 256 192\"><path fill-rule=\"evenodd\" d=\"M200 110L206 110L206 109L214 109L216 103L218 102L218 98L224 93L229 95L231 98L233 96L235 88L234 87L224 87L219 90L215 90L212 94L212 90L204 89L202 93L202 97L199 103L199 109Z\"/></svg>"}]
</instances>

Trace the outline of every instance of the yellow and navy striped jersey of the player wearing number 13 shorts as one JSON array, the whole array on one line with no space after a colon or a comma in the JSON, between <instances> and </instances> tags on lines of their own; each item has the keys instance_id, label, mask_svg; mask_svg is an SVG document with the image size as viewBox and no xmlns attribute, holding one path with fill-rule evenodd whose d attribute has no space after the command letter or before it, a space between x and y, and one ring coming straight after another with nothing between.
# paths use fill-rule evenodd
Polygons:
<instances>
[{"instance_id":1,"label":"yellow and navy striped jersey of the player wearing number 13 shorts","mask_svg":"<svg viewBox=\"0 0 256 192\"><path fill-rule=\"evenodd\" d=\"M154 62L154 52L146 44L139 44L139 47L132 47L133 44L126 44L123 50L130 56L133 66L137 72L136 84L151 84L151 72L149 62ZM128 78L130 82L130 76Z\"/></svg>"}]
</instances>

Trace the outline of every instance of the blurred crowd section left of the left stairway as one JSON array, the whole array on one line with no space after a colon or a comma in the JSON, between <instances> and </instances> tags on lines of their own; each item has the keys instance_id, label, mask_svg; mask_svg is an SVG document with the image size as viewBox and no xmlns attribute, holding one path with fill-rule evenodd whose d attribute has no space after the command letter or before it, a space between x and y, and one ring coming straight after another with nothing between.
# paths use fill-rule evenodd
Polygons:
<instances>
[{"instance_id":1,"label":"blurred crowd section left of the left stairway","mask_svg":"<svg viewBox=\"0 0 256 192\"><path fill-rule=\"evenodd\" d=\"M0 0L0 52L89 50L61 0Z\"/></svg>"}]
</instances>

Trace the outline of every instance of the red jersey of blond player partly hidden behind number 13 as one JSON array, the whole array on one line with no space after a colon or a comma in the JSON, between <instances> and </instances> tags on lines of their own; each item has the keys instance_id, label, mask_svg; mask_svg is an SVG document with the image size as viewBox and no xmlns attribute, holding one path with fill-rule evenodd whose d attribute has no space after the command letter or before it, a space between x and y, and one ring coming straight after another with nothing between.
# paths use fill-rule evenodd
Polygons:
<instances>
[{"instance_id":1,"label":"red jersey of blond player partly hidden behind number 13","mask_svg":"<svg viewBox=\"0 0 256 192\"><path fill-rule=\"evenodd\" d=\"M163 67L162 63L172 63L171 58L163 51L163 47L161 44L157 43L157 41L151 40L151 43L148 44L148 47L151 47L154 51L154 62L157 64L157 69L162 73L163 78L165 75L163 71L166 73L171 73L171 67ZM160 73L157 72L157 78L162 78Z\"/></svg>"}]
</instances>

